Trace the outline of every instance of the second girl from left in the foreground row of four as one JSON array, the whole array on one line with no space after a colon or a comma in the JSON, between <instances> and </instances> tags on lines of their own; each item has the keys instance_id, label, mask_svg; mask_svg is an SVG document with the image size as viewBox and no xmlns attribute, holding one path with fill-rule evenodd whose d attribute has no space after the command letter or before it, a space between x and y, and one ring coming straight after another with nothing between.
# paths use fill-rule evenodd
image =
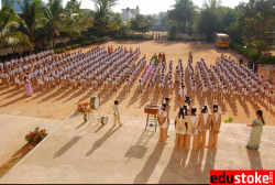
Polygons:
<instances>
[{"instance_id":1,"label":"second girl from left in the foreground row of four","mask_svg":"<svg viewBox=\"0 0 275 185\"><path fill-rule=\"evenodd\" d=\"M197 109L193 108L190 116L187 117L187 137L185 148L190 149L191 135L193 135L193 150L198 149L198 127L199 117L196 116Z\"/></svg>"}]
</instances>

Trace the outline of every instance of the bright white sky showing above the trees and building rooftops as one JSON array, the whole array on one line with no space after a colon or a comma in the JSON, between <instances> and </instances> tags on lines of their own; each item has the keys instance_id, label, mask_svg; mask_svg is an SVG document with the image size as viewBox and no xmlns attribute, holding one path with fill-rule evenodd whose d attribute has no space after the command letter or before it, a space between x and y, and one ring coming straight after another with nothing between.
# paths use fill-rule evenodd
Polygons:
<instances>
[{"instance_id":1,"label":"bright white sky showing above the trees and building rooftops","mask_svg":"<svg viewBox=\"0 0 275 185\"><path fill-rule=\"evenodd\" d=\"M68 0L63 0L64 4ZM77 0L80 1L80 0ZM239 2L249 2L249 0L222 0L222 6L234 8ZM193 0L193 2L201 7L204 0ZM113 7L114 12L120 12L121 9L135 9L136 6L141 9L141 14L158 14L158 12L166 12L172 9L170 6L175 4L175 0L119 0L116 7ZM81 8L94 9L92 0L81 0Z\"/></svg>"}]
</instances>

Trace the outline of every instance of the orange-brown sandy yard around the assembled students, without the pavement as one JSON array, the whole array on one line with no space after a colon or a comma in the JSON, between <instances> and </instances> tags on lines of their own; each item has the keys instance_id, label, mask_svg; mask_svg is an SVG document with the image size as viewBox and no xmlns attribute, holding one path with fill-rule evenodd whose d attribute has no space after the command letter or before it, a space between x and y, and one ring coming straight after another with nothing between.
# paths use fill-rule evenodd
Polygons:
<instances>
[{"instance_id":1,"label":"orange-brown sandy yard around the assembled students, without the pavement","mask_svg":"<svg viewBox=\"0 0 275 185\"><path fill-rule=\"evenodd\" d=\"M200 58L206 59L206 64L208 67L210 65L215 65L217 56L220 56L222 53L224 55L230 55L232 57L237 56L237 52L232 50L222 50L216 48L213 43L202 43L201 48L197 47L197 43L195 42L184 42L184 41L167 41L163 40L154 40L154 41L112 41L100 46L112 45L113 47L118 47L120 45L127 46L128 48L132 47L135 50L136 47L141 48L141 56L146 55L147 64L151 57L156 53L165 52L166 61L173 61L174 63L174 72L177 65L178 58L183 59L184 67L187 67L187 59L189 52L193 52L194 55L194 67L197 61ZM82 47L82 52L90 50L92 46ZM80 48L75 50L77 52ZM74 52L74 51L73 51ZM248 61L246 58L244 59ZM263 75L267 78L270 66L260 67L260 75ZM175 78L175 77L174 77ZM187 76L186 76L187 78ZM100 112L108 113L112 112L112 105L116 99L120 100L120 110L122 115L127 116L138 116L144 117L144 107L146 105L160 105L163 102L163 99L167 96L167 88L163 96L157 95L157 88L155 88L154 96L148 97L148 89L145 88L143 96L139 96L138 94L138 81L135 80L134 86L132 87L131 94L125 95L125 90L121 87L117 95L112 91L106 94L102 90L98 90L95 95L98 95L101 100L101 109ZM174 79L175 80L175 79ZM187 87L189 88L189 80L187 80ZM166 85L167 87L167 85ZM28 116L35 118L48 118L48 119L65 119L72 111L77 108L78 102L89 101L89 98L94 95L92 90L87 90L82 92L81 90L77 90L73 92L73 90L63 91L58 89L53 91L52 89L46 89L40 91L36 87L33 89L34 95L32 97L26 97L24 92L24 88L21 90L15 90L13 86L11 89L6 89L4 86L0 86L0 113L2 115L19 115L19 116ZM174 97L172 99L172 117L176 115L178 110L178 84L175 84ZM189 94L190 90L188 90ZM197 89L197 98L193 101L194 107L200 108L206 105L212 107L213 102L210 96L206 99L199 97L201 95L199 89ZM266 102L266 101L265 101ZM255 117L255 110L262 109L264 112L264 117L267 126L275 126L275 105L272 106L272 109L264 102L258 105L253 105L250 101L248 105L243 105L241 98L239 97L237 104L221 104L221 100L218 99L218 105L220 106L220 112L223 115L222 120L227 119L229 116L233 116L233 122L243 122L251 123Z\"/></svg>"}]
</instances>

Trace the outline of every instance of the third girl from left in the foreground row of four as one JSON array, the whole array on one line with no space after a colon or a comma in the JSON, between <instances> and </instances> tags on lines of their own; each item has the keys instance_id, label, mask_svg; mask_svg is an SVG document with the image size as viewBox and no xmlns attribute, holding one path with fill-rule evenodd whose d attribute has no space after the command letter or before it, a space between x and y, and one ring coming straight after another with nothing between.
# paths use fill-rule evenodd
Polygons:
<instances>
[{"instance_id":1,"label":"third girl from left in the foreground row of four","mask_svg":"<svg viewBox=\"0 0 275 185\"><path fill-rule=\"evenodd\" d=\"M199 134L198 134L198 146L206 146L206 135L209 130L211 117L208 115L207 106L202 106L201 115L199 116Z\"/></svg>"}]
</instances>

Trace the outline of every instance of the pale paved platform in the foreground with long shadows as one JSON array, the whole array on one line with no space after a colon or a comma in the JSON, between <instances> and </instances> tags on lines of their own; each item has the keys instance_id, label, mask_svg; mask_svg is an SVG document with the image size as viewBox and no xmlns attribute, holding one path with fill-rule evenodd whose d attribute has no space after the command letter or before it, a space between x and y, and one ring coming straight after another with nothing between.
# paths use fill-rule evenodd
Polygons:
<instances>
[{"instance_id":1,"label":"pale paved platform in the foreground with long shadows","mask_svg":"<svg viewBox=\"0 0 275 185\"><path fill-rule=\"evenodd\" d=\"M218 150L174 149L158 143L158 130L144 131L145 117L112 116L102 127L73 115L1 179L6 183L209 183L210 170L274 170L275 127L264 127L260 151L244 146L251 128L223 123Z\"/></svg>"}]
</instances>

